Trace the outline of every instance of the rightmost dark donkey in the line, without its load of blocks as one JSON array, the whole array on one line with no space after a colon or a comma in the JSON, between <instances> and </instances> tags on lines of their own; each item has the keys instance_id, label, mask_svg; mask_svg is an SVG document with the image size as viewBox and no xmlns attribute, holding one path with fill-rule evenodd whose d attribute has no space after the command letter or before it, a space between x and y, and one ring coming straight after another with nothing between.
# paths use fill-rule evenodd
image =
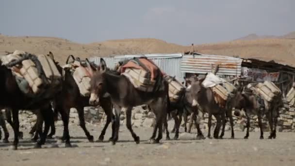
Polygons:
<instances>
[{"instance_id":1,"label":"rightmost dark donkey in the line, without its load of blocks","mask_svg":"<svg viewBox=\"0 0 295 166\"><path fill-rule=\"evenodd\" d=\"M246 113L247 123L246 123L246 135L245 139L249 137L249 128L250 128L250 115L257 115L258 125L260 128L260 139L263 139L263 128L262 128L262 116L266 115L268 118L268 123L270 126L270 135L268 139L276 138L277 136L277 122L279 117L279 107L283 105L281 96L278 96L272 102L268 102L264 99L261 99L253 94L253 92L246 88L239 88L237 92L236 101L234 104L236 116L241 116L241 111L244 109Z\"/></svg>"}]
</instances>

